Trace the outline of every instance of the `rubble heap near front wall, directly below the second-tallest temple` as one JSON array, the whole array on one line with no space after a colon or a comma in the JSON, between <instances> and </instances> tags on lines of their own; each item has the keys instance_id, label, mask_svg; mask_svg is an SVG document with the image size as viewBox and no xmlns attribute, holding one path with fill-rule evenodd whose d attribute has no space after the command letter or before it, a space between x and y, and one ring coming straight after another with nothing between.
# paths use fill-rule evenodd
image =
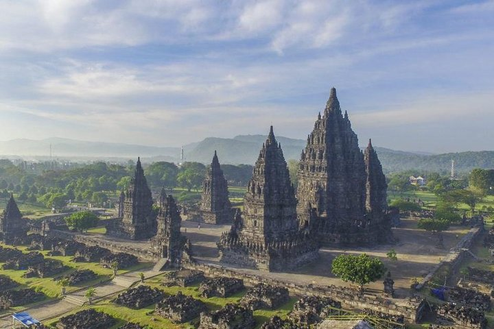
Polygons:
<instances>
[{"instance_id":1,"label":"rubble heap near front wall, directly below the second-tallest temple","mask_svg":"<svg viewBox=\"0 0 494 329\"><path fill-rule=\"evenodd\" d=\"M289 299L290 295L285 287L256 284L242 297L240 304L250 310L259 310L261 308L274 310L288 302Z\"/></svg>"}]
</instances>

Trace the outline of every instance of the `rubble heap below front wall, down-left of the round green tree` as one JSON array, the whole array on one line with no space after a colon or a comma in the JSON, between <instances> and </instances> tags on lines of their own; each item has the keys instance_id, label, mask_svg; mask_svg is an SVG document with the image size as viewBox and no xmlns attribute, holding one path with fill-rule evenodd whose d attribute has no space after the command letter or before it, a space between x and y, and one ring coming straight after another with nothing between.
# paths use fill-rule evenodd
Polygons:
<instances>
[{"instance_id":1,"label":"rubble heap below front wall, down-left of the round green tree","mask_svg":"<svg viewBox=\"0 0 494 329\"><path fill-rule=\"evenodd\" d=\"M334 308L341 308L341 303L329 297L307 296L294 304L289 317L300 326L309 326L325 319Z\"/></svg>"}]
</instances>

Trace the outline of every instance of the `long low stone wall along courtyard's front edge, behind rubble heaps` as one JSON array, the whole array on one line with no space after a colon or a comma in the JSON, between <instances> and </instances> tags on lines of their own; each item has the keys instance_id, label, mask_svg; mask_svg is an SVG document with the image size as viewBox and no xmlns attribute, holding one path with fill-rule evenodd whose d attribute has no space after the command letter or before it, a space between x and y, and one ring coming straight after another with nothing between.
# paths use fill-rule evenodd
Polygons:
<instances>
[{"instance_id":1,"label":"long low stone wall along courtyard's front edge, behind rubble heaps","mask_svg":"<svg viewBox=\"0 0 494 329\"><path fill-rule=\"evenodd\" d=\"M244 280L247 286L263 283L274 286L286 287L294 295L319 295L331 297L342 304L343 307L364 310L366 308L389 315L403 315L410 322L419 321L424 306L423 300L410 300L398 302L377 295L359 294L355 289L331 286L320 286L316 284L296 284L284 282L255 274L240 273L225 267L208 265L204 263L187 263L184 267L203 271L206 276L225 276L228 278L239 278Z\"/></svg>"}]
</instances>

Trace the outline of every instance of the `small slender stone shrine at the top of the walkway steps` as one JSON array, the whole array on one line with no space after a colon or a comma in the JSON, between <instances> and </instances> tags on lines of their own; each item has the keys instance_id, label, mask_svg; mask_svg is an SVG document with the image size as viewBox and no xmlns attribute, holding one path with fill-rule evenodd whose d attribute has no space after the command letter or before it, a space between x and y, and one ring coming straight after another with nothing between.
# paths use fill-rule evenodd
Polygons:
<instances>
[{"instance_id":1,"label":"small slender stone shrine at the top of the walkway steps","mask_svg":"<svg viewBox=\"0 0 494 329\"><path fill-rule=\"evenodd\" d=\"M166 195L164 190L161 191L158 204L158 230L151 240L152 250L171 263L179 263L185 243L185 237L180 234L180 212L172 195Z\"/></svg>"}]
</instances>

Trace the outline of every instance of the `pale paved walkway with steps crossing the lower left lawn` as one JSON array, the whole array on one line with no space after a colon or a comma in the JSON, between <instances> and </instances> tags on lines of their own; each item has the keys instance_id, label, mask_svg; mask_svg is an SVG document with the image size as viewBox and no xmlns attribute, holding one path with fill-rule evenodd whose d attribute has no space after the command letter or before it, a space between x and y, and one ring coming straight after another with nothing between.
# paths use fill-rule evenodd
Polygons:
<instances>
[{"instance_id":1,"label":"pale paved walkway with steps crossing the lower left lawn","mask_svg":"<svg viewBox=\"0 0 494 329\"><path fill-rule=\"evenodd\" d=\"M119 275L118 277L125 278L126 280L133 280L134 282L139 282L141 280L139 273L141 272L144 273L145 278L151 278L152 276L157 276L158 274L162 273L162 272L153 271L152 269L148 269L148 270L139 270L139 271L124 273ZM95 286L95 289L96 289L95 300L97 300L98 298L104 297L106 295L111 295L119 291L124 291L127 288L109 281ZM76 299L85 302L86 297L84 297L84 294L86 293L86 290L87 289L82 289L80 291L75 291L74 293L68 293L67 295L70 295L71 297L75 297ZM57 317L64 313L70 312L71 310L74 310L75 308L79 308L79 307L80 306L78 306L77 304L67 302L67 300L55 300L53 302L47 302L39 306L28 308L26 311L32 317L34 317L34 319L37 319L38 321L44 321L51 317ZM0 317L0 328L2 329L12 328L11 314L3 315ZM21 326L21 324L19 324L19 322L17 322L17 326L15 328L23 328L23 327Z\"/></svg>"}]
</instances>

